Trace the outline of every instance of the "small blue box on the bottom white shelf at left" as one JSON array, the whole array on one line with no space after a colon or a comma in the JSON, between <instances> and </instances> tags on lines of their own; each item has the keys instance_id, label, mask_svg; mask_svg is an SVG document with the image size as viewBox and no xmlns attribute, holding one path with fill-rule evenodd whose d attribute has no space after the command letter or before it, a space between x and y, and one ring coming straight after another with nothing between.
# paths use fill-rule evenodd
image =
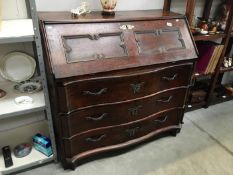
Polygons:
<instances>
[{"instance_id":1,"label":"small blue box on the bottom white shelf at left","mask_svg":"<svg viewBox=\"0 0 233 175\"><path fill-rule=\"evenodd\" d=\"M48 157L53 154L50 139L41 134L36 134L33 137L33 145L36 150L40 151L41 153L43 153Z\"/></svg>"}]
</instances>

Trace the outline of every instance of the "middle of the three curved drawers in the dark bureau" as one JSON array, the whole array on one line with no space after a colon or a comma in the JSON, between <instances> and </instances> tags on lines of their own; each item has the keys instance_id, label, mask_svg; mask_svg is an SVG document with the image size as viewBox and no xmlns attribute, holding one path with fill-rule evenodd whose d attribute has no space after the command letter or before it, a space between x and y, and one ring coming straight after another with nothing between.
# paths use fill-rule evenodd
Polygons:
<instances>
[{"instance_id":1,"label":"middle of the three curved drawers in the dark bureau","mask_svg":"<svg viewBox=\"0 0 233 175\"><path fill-rule=\"evenodd\" d=\"M183 107L186 88L165 91L140 100L97 106L61 116L63 137L136 121L159 111Z\"/></svg>"}]
</instances>

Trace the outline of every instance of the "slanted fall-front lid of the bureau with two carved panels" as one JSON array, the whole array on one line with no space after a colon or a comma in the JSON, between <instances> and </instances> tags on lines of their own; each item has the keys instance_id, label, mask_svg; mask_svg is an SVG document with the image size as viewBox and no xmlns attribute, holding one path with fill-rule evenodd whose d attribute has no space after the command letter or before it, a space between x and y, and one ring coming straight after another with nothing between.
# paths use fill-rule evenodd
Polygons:
<instances>
[{"instance_id":1,"label":"slanted fall-front lid of the bureau with two carved panels","mask_svg":"<svg viewBox=\"0 0 233 175\"><path fill-rule=\"evenodd\" d=\"M133 29L122 29L122 26L131 25ZM193 59L196 56L193 42L188 37L189 30L185 27L186 22L184 19L168 19L168 20L156 20L156 21L134 21L134 22L121 22L121 23L94 23L94 24L48 24L45 26L45 30L48 45L53 48L50 51L50 57L52 59L52 71L56 78L67 78L74 75L86 75L96 74L107 71L115 71L119 69L128 69L133 67L148 66L153 64L159 64L164 62L179 61L180 59ZM96 31L98 31L96 33ZM79 35L77 35L77 33ZM142 35L143 36L139 36ZM72 48L72 45L64 44L63 38L76 38L89 37L92 38L99 35L121 35L123 40L123 47L125 48L125 56L122 56L124 49L122 49L119 42L114 43L116 47L111 47L112 54L115 57L105 58L103 56L109 49L102 41L101 46L105 46L105 49L97 49L100 47L95 39L87 42L82 42L80 48L77 44L73 46L79 47L79 49ZM186 38L185 40L183 38ZM113 39L111 39L113 40ZM74 41L73 41L74 42ZM78 42L78 41L76 41ZM94 42L91 45L88 44ZM115 40L114 40L115 42ZM167 44L165 44L167 43ZM109 44L109 46L112 46ZM86 47L95 47L90 53L92 61L80 61L69 64L69 57L67 51L70 54L77 55L79 50L84 50L86 53ZM103 47L100 47L103 48ZM100 52L103 50L102 52ZM121 50L121 51L119 51ZM171 54L172 53L172 54ZM180 57L182 55L182 57ZM78 54L78 56L82 56ZM91 59L91 55L87 55L86 59ZM68 60L67 60L68 57ZM72 57L72 56L71 56ZM106 55L108 57L108 55ZM83 60L85 58L79 58ZM78 60L78 58L76 58ZM107 60L107 61L106 61ZM72 61L71 61L72 62ZM114 65L114 66L112 66Z\"/></svg>"}]
</instances>

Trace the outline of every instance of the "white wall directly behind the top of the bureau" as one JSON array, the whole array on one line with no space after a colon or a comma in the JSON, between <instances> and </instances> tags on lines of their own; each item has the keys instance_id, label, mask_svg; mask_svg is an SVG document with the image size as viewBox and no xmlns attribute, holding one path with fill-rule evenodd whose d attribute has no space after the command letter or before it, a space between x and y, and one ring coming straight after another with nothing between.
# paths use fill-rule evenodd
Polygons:
<instances>
[{"instance_id":1,"label":"white wall directly behind the top of the bureau","mask_svg":"<svg viewBox=\"0 0 233 175\"><path fill-rule=\"evenodd\" d=\"M38 11L70 11L82 0L36 0ZM86 0L92 10L101 10L100 0ZM116 10L162 9L164 0L118 0Z\"/></svg>"}]
</instances>

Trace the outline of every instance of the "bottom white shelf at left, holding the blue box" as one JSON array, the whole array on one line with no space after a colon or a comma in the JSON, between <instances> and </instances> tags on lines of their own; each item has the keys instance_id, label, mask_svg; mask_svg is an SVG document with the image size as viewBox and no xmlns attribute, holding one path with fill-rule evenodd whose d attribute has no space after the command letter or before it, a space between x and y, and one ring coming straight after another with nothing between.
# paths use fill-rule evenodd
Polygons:
<instances>
[{"instance_id":1,"label":"bottom white shelf at left, holding the blue box","mask_svg":"<svg viewBox=\"0 0 233 175\"><path fill-rule=\"evenodd\" d=\"M0 174L9 174L26 168L31 168L33 166L38 166L40 164L51 162L53 160L53 156L47 157L44 154L32 148L31 153L24 158L17 158L12 153L12 160L14 165L9 168L5 168L3 155L2 153L0 153Z\"/></svg>"}]
</instances>

